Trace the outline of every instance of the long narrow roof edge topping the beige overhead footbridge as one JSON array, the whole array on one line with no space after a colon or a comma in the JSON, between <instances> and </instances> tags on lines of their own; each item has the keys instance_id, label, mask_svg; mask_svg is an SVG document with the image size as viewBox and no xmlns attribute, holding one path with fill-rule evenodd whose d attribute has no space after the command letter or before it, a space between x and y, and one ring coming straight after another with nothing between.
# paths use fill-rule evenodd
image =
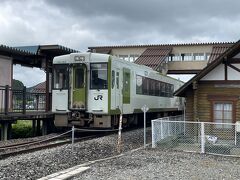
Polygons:
<instances>
[{"instance_id":1,"label":"long narrow roof edge topping the beige overhead footbridge","mask_svg":"<svg viewBox=\"0 0 240 180\"><path fill-rule=\"evenodd\" d=\"M116 45L116 46L92 46L88 49L99 49L99 48L139 48L139 47L166 47L166 46L201 46L201 45L218 45L218 44L234 44L235 42L207 42L207 43L177 43L177 44L147 44L147 45Z\"/></svg>"}]
</instances>

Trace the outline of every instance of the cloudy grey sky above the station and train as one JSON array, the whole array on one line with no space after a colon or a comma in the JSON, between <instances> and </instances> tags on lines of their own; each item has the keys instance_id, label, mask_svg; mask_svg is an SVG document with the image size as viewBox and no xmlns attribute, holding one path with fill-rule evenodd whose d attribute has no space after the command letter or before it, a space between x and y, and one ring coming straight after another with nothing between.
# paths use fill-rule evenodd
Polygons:
<instances>
[{"instance_id":1,"label":"cloudy grey sky above the station and train","mask_svg":"<svg viewBox=\"0 0 240 180\"><path fill-rule=\"evenodd\" d=\"M240 39L237 0L2 0L0 44L89 46ZM31 77L31 78L29 78ZM14 68L32 86L41 70Z\"/></svg>"}]
</instances>

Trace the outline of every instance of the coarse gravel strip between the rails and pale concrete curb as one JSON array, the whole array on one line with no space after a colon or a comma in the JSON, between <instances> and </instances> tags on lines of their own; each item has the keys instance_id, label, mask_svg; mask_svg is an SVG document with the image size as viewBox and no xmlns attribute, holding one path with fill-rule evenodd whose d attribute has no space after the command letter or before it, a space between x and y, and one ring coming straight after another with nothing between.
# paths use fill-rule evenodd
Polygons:
<instances>
[{"instance_id":1,"label":"coarse gravel strip between the rails and pale concrete curb","mask_svg":"<svg viewBox=\"0 0 240 180\"><path fill-rule=\"evenodd\" d=\"M143 130L122 135L123 152L143 145ZM127 142L127 143L126 143ZM91 160L117 155L117 133L0 160L0 179L37 179Z\"/></svg>"}]
</instances>

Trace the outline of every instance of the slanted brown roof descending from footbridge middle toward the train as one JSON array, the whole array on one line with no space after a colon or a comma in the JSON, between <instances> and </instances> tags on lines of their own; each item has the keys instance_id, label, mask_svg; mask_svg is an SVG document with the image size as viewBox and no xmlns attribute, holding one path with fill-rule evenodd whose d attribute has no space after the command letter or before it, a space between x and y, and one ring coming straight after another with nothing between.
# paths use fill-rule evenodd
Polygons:
<instances>
[{"instance_id":1,"label":"slanted brown roof descending from footbridge middle toward the train","mask_svg":"<svg viewBox=\"0 0 240 180\"><path fill-rule=\"evenodd\" d=\"M157 70L171 51L171 47L147 48L134 63Z\"/></svg>"}]
</instances>

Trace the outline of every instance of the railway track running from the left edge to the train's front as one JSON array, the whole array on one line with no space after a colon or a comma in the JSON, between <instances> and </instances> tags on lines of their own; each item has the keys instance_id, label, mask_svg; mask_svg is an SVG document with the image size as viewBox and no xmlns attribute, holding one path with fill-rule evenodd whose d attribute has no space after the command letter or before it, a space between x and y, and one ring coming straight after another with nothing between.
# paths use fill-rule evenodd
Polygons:
<instances>
[{"instance_id":1,"label":"railway track running from the left edge to the train's front","mask_svg":"<svg viewBox=\"0 0 240 180\"><path fill-rule=\"evenodd\" d=\"M99 137L99 135L90 135L80 138L75 138L74 142L81 142L89 139L93 139ZM15 156L19 154L34 152L42 149L53 148L57 146L61 146L64 144L72 143L72 139L69 136L61 137L61 138L49 138L46 140L36 140L32 142L23 142L16 143L12 145L0 146L0 159L4 159L10 156Z\"/></svg>"}]
</instances>

